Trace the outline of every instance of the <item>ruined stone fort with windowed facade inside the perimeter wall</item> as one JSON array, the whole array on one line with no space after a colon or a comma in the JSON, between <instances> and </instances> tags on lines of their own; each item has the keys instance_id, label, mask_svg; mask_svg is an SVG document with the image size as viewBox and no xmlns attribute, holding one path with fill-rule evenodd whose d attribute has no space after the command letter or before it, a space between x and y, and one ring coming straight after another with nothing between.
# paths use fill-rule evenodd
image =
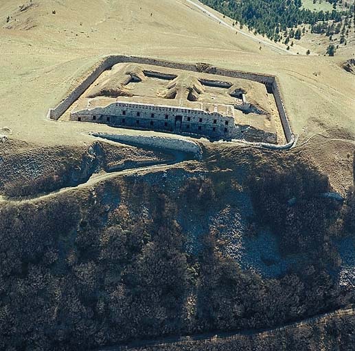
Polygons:
<instances>
[{"instance_id":1,"label":"ruined stone fort with windowed facade inside the perimeter wall","mask_svg":"<svg viewBox=\"0 0 355 351\"><path fill-rule=\"evenodd\" d=\"M257 81L152 63L123 60L102 70L60 118L210 141L290 141L279 95L263 76Z\"/></svg>"}]
</instances>

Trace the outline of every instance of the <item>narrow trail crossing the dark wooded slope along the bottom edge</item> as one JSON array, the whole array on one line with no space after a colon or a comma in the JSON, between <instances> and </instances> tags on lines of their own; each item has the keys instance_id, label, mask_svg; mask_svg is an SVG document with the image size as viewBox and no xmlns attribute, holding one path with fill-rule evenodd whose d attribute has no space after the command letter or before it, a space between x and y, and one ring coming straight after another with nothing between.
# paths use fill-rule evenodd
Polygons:
<instances>
[{"instance_id":1,"label":"narrow trail crossing the dark wooded slope along the bottom edge","mask_svg":"<svg viewBox=\"0 0 355 351\"><path fill-rule=\"evenodd\" d=\"M239 332L218 332L218 333L203 333L203 334L195 334L190 336L177 336L177 337L165 337L154 340L140 340L133 341L131 343L127 343L122 346L111 346L107 348L99 348L96 351L125 351L133 348L144 348L149 346L168 346L172 343L190 343L191 341L216 341L218 339L225 341L233 341L242 339L246 336L257 336L262 335L263 337L274 335L277 332L283 332L292 328L299 328L301 326L305 326L306 324L310 324L312 322L323 322L326 321L330 317L342 317L342 316L354 316L355 317L355 308L352 306L351 308L341 308L336 311L323 313L321 315L316 315L314 317L310 317L307 319L303 319L299 322L288 323L284 326L278 328L267 328L262 330L242 330Z\"/></svg>"}]
</instances>

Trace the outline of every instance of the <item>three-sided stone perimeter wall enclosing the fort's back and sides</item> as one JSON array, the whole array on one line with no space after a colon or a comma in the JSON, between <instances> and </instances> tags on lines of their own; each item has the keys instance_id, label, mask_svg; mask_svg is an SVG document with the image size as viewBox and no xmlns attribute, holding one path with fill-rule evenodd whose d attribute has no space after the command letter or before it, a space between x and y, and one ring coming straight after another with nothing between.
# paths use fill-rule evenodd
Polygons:
<instances>
[{"instance_id":1,"label":"three-sided stone perimeter wall enclosing the fort's back and sides","mask_svg":"<svg viewBox=\"0 0 355 351\"><path fill-rule=\"evenodd\" d=\"M290 128L290 123L288 122L288 117L284 108L282 96L279 92L279 84L275 76L262 75L259 73L233 71L227 69L218 69L209 64L183 64L179 62L170 62L165 60L156 60L153 58L141 58L135 56L107 56L106 58L104 58L101 62L99 62L96 66L93 67L91 73L86 78L84 78L84 80L82 80L82 82L76 88L74 88L65 99L60 101L60 104L58 104L56 108L51 108L49 110L48 117L50 119L58 120L59 117L71 106L71 104L73 104L73 102L76 101L93 82L95 82L95 80L101 75L103 71L111 68L114 64L120 62L150 64L155 66L168 67L172 69L181 69L185 71L225 75L226 77L236 77L246 80L253 80L255 82L265 84L266 87L271 88L273 90L277 108L279 110L279 116L281 118L282 126L284 128L284 133L286 136L286 145L289 145L290 143L295 143L295 136Z\"/></svg>"}]
</instances>

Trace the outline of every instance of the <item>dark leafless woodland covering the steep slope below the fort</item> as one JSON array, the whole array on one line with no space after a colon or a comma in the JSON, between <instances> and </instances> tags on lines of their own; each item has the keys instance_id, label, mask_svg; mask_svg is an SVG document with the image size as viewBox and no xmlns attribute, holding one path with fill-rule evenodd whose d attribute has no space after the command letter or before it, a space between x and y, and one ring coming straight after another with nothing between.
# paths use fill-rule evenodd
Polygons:
<instances>
[{"instance_id":1,"label":"dark leafless woodland covering the steep slope below the fort","mask_svg":"<svg viewBox=\"0 0 355 351\"><path fill-rule=\"evenodd\" d=\"M259 164L257 154L247 153L240 150L235 163L225 152L215 162L210 154L211 172L183 178L177 193L169 178L162 186L130 176L56 201L3 203L0 348L87 350L137 337L265 328L349 304L354 291L339 286L324 258L332 253L328 226L339 214L318 197L329 187L326 178L304 165L292 169L297 159L279 160L286 164L282 172L271 154ZM213 169L223 162L234 165L220 178ZM255 176L240 184L251 170ZM284 191L277 190L280 182ZM192 233L176 221L182 204L209 221L208 209L230 203L240 186L249 189L255 215L277 232L285 251L317 256L300 271L266 279L222 254L216 229L200 238L201 250L187 252ZM297 198L294 206L290 197ZM348 223L351 205L345 213Z\"/></svg>"}]
</instances>

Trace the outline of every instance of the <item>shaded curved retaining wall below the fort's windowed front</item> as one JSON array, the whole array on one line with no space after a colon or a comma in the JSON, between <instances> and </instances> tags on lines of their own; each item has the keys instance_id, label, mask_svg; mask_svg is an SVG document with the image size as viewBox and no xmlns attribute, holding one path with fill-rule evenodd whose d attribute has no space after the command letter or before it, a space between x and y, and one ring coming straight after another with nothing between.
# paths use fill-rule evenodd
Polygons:
<instances>
[{"instance_id":1,"label":"shaded curved retaining wall below the fort's windowed front","mask_svg":"<svg viewBox=\"0 0 355 351\"><path fill-rule=\"evenodd\" d=\"M147 146L157 149L172 149L179 152L194 154L199 160L202 158L201 147L193 141L181 138L168 138L165 136L146 136L110 133L91 133L92 136L106 138L128 145Z\"/></svg>"}]
</instances>

